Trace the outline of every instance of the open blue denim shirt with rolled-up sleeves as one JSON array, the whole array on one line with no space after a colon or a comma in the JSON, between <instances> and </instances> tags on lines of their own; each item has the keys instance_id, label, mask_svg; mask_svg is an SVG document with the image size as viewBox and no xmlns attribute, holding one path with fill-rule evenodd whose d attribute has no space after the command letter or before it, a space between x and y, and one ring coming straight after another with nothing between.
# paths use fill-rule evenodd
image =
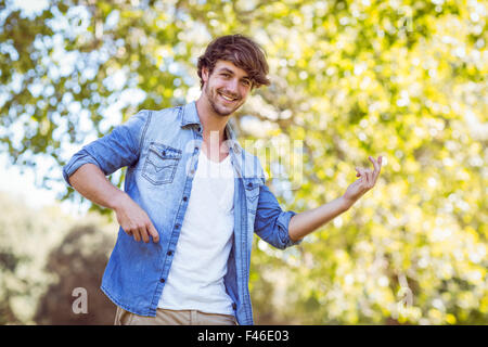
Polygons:
<instances>
[{"instance_id":1,"label":"open blue denim shirt with rolled-up sleeves","mask_svg":"<svg viewBox=\"0 0 488 347\"><path fill-rule=\"evenodd\" d=\"M136 242L118 230L101 290L119 307L155 317L192 190L202 125L195 102L162 111L141 111L103 138L85 145L63 168L68 177L91 163L105 175L127 167L125 192L159 233L159 242ZM249 265L253 235L277 248L298 244L288 236L294 211L283 211L265 185L259 159L245 152L229 125L229 155L234 169L234 233L224 275L237 323L253 324ZM211 222L203 220L202 222Z\"/></svg>"}]
</instances>

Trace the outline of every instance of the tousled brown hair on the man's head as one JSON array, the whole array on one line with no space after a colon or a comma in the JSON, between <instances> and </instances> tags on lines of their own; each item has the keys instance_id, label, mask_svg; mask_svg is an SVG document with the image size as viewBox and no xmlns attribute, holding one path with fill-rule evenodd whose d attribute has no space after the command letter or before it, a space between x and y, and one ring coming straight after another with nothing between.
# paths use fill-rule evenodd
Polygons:
<instances>
[{"instance_id":1,"label":"tousled brown hair on the man's head","mask_svg":"<svg viewBox=\"0 0 488 347\"><path fill-rule=\"evenodd\" d=\"M245 70L253 81L253 88L270 85L269 79L266 77L269 67L266 62L265 51L248 37L236 34L221 36L213 40L205 53L198 57L197 68L201 88L204 85L202 67L208 68L208 73L211 74L215 64L219 60L231 62Z\"/></svg>"}]
</instances>

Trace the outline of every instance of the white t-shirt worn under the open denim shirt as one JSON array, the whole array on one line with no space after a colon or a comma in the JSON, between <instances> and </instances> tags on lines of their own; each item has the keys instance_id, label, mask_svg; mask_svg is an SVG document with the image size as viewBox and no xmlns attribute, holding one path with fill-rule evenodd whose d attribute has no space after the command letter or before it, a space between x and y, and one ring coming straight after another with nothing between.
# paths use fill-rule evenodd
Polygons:
<instances>
[{"instance_id":1,"label":"white t-shirt worn under the open denim shirt","mask_svg":"<svg viewBox=\"0 0 488 347\"><path fill-rule=\"evenodd\" d=\"M223 284L234 230L233 197L230 155L217 163L201 151L159 308L234 314Z\"/></svg>"}]
</instances>

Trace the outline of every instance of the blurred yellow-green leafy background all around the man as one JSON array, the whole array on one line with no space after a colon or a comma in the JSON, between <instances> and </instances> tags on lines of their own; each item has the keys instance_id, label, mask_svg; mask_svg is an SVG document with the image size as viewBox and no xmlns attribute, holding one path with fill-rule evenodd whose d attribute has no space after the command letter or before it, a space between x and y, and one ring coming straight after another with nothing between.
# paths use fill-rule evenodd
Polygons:
<instances>
[{"instance_id":1,"label":"blurred yellow-green leafy background all around the man","mask_svg":"<svg viewBox=\"0 0 488 347\"><path fill-rule=\"evenodd\" d=\"M376 187L299 246L255 240L256 323L487 324L486 20L474 0L0 0L0 150L59 200L0 193L0 324L113 323L99 285L117 224L62 166L139 110L195 100L197 56L236 33L272 81L232 117L241 142L303 141L288 185L264 158L284 209L338 197L384 156Z\"/></svg>"}]
</instances>

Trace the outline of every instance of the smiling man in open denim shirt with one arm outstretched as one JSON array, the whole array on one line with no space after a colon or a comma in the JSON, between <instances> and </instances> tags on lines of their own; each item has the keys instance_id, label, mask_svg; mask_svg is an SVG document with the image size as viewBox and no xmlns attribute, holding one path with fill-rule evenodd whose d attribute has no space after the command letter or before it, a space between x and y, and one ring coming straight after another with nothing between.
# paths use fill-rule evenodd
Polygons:
<instances>
[{"instance_id":1,"label":"smiling man in open denim shirt with one arm outstretched","mask_svg":"<svg viewBox=\"0 0 488 347\"><path fill-rule=\"evenodd\" d=\"M253 40L220 37L198 60L196 102L141 111L64 167L67 183L120 224L101 285L117 305L116 324L253 324L254 233L295 245L375 184L381 157L370 157L373 171L356 168L343 196L301 214L281 209L228 125L252 89L269 85L267 74ZM126 166L120 191L105 176Z\"/></svg>"}]
</instances>

